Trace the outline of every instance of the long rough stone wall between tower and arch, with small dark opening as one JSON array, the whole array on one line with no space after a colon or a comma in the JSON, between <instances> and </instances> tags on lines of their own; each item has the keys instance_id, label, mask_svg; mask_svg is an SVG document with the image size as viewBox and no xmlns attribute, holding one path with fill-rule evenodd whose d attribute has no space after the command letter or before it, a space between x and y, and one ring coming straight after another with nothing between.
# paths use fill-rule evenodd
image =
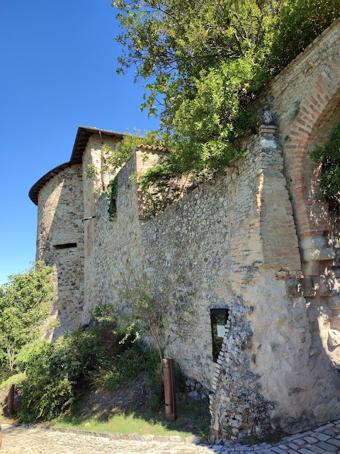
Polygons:
<instances>
[{"instance_id":1,"label":"long rough stone wall between tower and arch, with small dark opening","mask_svg":"<svg viewBox=\"0 0 340 454\"><path fill-rule=\"evenodd\" d=\"M139 277L147 272L154 287L167 282L173 323L165 333L166 355L210 392L214 439L314 426L328 418L324 402L339 394L336 375L322 366L326 358L310 358L303 293L310 289L300 279L283 152L275 128L261 131L247 138L246 158L224 177L201 184L149 221L129 179L144 165L142 150L135 150L118 173L113 222L105 194L94 211L91 305L115 304L130 269ZM217 365L212 308L229 309ZM181 316L187 323L179 328Z\"/></svg>"}]
</instances>

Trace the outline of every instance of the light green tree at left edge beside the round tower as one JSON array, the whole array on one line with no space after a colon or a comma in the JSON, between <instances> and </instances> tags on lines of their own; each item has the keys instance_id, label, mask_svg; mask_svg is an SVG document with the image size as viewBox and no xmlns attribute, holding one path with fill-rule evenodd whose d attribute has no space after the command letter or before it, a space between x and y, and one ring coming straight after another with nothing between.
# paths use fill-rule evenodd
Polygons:
<instances>
[{"instance_id":1,"label":"light green tree at left edge beside the round tower","mask_svg":"<svg viewBox=\"0 0 340 454\"><path fill-rule=\"evenodd\" d=\"M42 323L50 314L55 295L52 267L35 264L25 274L8 276L0 287L0 348L10 370L18 351L40 336Z\"/></svg>"}]
</instances>

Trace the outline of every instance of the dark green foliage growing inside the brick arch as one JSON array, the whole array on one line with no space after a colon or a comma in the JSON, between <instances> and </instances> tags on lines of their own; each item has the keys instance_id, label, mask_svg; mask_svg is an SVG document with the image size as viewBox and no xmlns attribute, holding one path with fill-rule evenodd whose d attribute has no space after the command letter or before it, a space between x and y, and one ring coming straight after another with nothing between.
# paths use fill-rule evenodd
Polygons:
<instances>
[{"instance_id":1,"label":"dark green foliage growing inside the brick arch","mask_svg":"<svg viewBox=\"0 0 340 454\"><path fill-rule=\"evenodd\" d=\"M330 211L340 213L340 123L334 124L328 140L310 153L321 165L319 187Z\"/></svg>"}]
</instances>

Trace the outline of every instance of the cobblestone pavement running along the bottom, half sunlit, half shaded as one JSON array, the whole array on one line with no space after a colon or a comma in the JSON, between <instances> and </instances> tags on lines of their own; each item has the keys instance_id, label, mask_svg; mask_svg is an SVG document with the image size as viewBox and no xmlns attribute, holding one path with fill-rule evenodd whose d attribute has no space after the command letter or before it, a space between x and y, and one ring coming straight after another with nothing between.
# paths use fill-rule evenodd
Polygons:
<instances>
[{"instance_id":1,"label":"cobblestone pavement running along the bottom, half sunlit, half shaded","mask_svg":"<svg viewBox=\"0 0 340 454\"><path fill-rule=\"evenodd\" d=\"M132 436L130 436L132 437ZM3 424L1 454L339 454L340 420L268 445L193 445L170 441L113 440L69 431Z\"/></svg>"}]
</instances>

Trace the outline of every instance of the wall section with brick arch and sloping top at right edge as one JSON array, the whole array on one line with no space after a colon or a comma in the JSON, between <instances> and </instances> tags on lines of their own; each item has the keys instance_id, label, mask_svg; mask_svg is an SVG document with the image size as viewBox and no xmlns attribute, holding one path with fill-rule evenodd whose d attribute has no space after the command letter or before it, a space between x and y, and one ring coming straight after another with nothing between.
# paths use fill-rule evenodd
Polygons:
<instances>
[{"instance_id":1,"label":"wall section with brick arch and sloping top at right edge","mask_svg":"<svg viewBox=\"0 0 340 454\"><path fill-rule=\"evenodd\" d=\"M319 199L320 169L308 152L324 143L333 124L340 121L339 52L338 19L269 84L258 101L263 109L270 107L279 121L304 276L298 283L300 291L293 279L287 281L288 294L305 297L309 363L315 383L324 389L320 402L311 406L317 422L340 408L333 394L340 370L339 218L329 216L327 204Z\"/></svg>"}]
</instances>

